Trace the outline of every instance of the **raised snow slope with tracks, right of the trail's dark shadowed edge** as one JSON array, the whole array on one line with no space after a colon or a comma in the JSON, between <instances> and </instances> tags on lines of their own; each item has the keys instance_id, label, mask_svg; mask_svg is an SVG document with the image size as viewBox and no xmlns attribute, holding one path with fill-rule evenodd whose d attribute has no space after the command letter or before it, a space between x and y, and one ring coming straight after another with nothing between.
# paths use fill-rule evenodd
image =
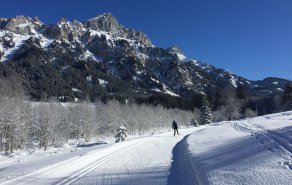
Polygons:
<instances>
[{"instance_id":1,"label":"raised snow slope with tracks, right of the trail's dark shadowed edge","mask_svg":"<svg viewBox=\"0 0 292 185\"><path fill-rule=\"evenodd\" d=\"M292 112L215 123L188 143L198 184L292 182Z\"/></svg>"}]
</instances>

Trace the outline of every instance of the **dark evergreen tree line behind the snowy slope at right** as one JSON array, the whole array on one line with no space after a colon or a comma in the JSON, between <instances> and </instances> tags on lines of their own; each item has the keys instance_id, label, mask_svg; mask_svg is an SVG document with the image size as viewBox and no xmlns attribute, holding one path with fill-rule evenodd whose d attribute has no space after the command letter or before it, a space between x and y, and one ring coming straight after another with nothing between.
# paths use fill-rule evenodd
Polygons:
<instances>
[{"instance_id":1,"label":"dark evergreen tree line behind the snowy slope at right","mask_svg":"<svg viewBox=\"0 0 292 185\"><path fill-rule=\"evenodd\" d=\"M242 93L240 95L238 96L238 92L226 92L225 96L220 98L222 99L220 106L215 106L216 101L220 100L216 96L202 96L201 109L195 108L194 110L196 115L200 115L198 123L208 124L213 121L238 120L292 110L292 82L286 84L282 95L275 94L266 98L247 98Z\"/></svg>"}]
</instances>

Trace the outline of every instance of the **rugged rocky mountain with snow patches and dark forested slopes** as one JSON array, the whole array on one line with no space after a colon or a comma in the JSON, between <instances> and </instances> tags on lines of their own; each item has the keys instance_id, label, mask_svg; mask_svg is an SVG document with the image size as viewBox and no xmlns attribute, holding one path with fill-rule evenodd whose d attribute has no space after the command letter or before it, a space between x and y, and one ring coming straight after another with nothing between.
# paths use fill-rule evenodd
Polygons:
<instances>
[{"instance_id":1,"label":"rugged rocky mountain with snow patches and dark forested slopes","mask_svg":"<svg viewBox=\"0 0 292 185\"><path fill-rule=\"evenodd\" d=\"M0 18L0 60L1 76L17 76L38 100L113 96L159 102L210 96L222 88L262 97L281 93L287 82L253 82L190 59L177 47L156 47L110 13L53 25L37 17Z\"/></svg>"}]
</instances>

